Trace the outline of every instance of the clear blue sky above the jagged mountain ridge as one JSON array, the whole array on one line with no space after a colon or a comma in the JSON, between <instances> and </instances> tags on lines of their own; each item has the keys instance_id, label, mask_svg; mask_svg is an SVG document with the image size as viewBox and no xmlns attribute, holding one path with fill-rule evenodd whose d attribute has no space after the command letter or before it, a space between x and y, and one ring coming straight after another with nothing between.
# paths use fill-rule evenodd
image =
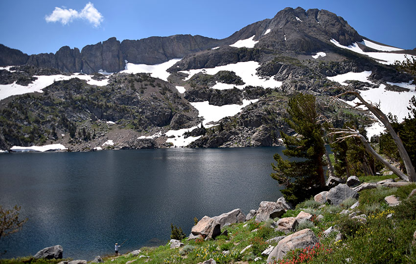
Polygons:
<instances>
[{"instance_id":1,"label":"clear blue sky above the jagged mountain ridge","mask_svg":"<svg viewBox=\"0 0 416 264\"><path fill-rule=\"evenodd\" d=\"M64 45L81 49L110 37L122 41L191 34L221 39L288 6L326 9L362 36L416 47L415 0L1 0L0 44L30 55L54 53Z\"/></svg>"}]
</instances>

